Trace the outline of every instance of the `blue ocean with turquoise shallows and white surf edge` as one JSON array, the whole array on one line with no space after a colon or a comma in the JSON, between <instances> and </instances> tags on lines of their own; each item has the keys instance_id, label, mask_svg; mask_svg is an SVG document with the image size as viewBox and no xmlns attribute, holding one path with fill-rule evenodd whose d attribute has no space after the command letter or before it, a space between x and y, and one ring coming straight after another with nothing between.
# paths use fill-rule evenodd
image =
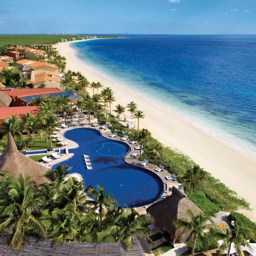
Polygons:
<instances>
[{"instance_id":1,"label":"blue ocean with turquoise shallows and white surf edge","mask_svg":"<svg viewBox=\"0 0 256 256\"><path fill-rule=\"evenodd\" d=\"M71 47L98 73L256 157L256 35L127 35Z\"/></svg>"}]
</instances>

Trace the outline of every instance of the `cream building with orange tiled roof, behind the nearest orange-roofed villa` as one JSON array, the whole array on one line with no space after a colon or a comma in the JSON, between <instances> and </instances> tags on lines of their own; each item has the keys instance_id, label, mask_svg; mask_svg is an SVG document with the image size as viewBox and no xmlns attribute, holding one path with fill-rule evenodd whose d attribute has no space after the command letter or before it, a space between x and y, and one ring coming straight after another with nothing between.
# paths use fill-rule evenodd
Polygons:
<instances>
[{"instance_id":1,"label":"cream building with orange tiled roof, behind the nearest orange-roofed villa","mask_svg":"<svg viewBox=\"0 0 256 256\"><path fill-rule=\"evenodd\" d=\"M31 79L31 75L37 75L43 72L50 72L58 75L58 67L54 64L49 64L33 60L20 60L16 62L19 64L19 77ZM34 74L32 73L34 72Z\"/></svg>"}]
</instances>

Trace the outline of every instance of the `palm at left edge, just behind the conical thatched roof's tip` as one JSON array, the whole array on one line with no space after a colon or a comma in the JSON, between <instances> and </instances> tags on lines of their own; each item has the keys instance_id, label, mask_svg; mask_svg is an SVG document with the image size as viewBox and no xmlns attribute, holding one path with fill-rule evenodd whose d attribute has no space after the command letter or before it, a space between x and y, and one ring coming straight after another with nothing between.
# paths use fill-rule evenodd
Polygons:
<instances>
[{"instance_id":1,"label":"palm at left edge, just behind the conical thatched roof's tip","mask_svg":"<svg viewBox=\"0 0 256 256\"><path fill-rule=\"evenodd\" d=\"M23 129L24 124L16 114L11 114L10 117L5 118L1 123L1 131L4 133L10 132L12 136L20 135L20 131L23 131Z\"/></svg>"}]
</instances>

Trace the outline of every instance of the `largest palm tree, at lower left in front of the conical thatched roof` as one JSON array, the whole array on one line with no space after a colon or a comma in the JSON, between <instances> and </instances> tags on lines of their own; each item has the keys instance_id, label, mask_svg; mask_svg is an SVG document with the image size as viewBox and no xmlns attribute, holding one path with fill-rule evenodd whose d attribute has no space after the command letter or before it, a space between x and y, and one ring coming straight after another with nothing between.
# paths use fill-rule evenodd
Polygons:
<instances>
[{"instance_id":1,"label":"largest palm tree, at lower left in front of the conical thatched roof","mask_svg":"<svg viewBox=\"0 0 256 256\"><path fill-rule=\"evenodd\" d=\"M38 212L44 200L35 194L30 178L31 176L20 174L8 187L0 190L0 232L11 232L8 248L16 245L18 250L25 235L29 235L29 227L39 236L46 236L46 226L33 214Z\"/></svg>"}]
</instances>

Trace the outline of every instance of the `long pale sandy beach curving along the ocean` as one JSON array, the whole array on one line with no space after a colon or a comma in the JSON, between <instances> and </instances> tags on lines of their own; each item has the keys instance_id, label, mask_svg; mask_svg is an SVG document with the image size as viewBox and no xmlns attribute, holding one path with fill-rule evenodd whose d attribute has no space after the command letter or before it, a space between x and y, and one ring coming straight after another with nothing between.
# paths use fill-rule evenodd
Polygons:
<instances>
[{"instance_id":1,"label":"long pale sandy beach curving along the ocean","mask_svg":"<svg viewBox=\"0 0 256 256\"><path fill-rule=\"evenodd\" d=\"M69 44L70 42L63 42L54 45L60 55L66 57L66 69L80 71L89 82L101 82L104 87L109 86L116 98L112 109L115 109L117 104L126 106L130 101L136 102L138 109L143 110L146 116L140 120L140 128L148 129L166 146L175 147L187 154L238 195L248 200L252 206L256 206L256 159L225 144L161 104L158 105L125 86L94 73L74 57L74 51ZM91 93L90 89L88 91Z\"/></svg>"}]
</instances>

